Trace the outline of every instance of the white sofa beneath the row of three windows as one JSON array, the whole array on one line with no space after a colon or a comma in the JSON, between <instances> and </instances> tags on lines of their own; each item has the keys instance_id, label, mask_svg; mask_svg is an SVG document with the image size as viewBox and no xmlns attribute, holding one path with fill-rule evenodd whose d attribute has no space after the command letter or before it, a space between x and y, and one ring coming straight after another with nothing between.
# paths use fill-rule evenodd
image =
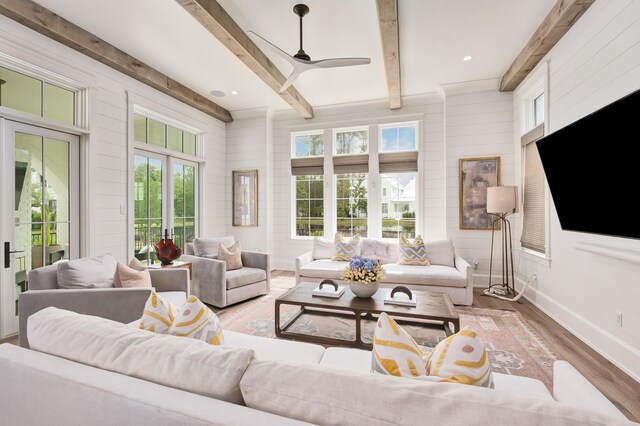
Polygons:
<instances>
[{"instance_id":1,"label":"white sofa beneath the row of three windows","mask_svg":"<svg viewBox=\"0 0 640 426\"><path fill-rule=\"evenodd\" d=\"M414 290L447 293L454 305L471 306L473 270L467 261L455 254L453 241L427 242L425 247L430 262L427 266L397 264L397 241L363 238L361 256L382 259L386 278L381 281L381 287L403 285ZM332 251L330 241L316 237L313 250L296 258L296 284L327 278L341 281L340 274L349 262L331 260Z\"/></svg>"}]
</instances>

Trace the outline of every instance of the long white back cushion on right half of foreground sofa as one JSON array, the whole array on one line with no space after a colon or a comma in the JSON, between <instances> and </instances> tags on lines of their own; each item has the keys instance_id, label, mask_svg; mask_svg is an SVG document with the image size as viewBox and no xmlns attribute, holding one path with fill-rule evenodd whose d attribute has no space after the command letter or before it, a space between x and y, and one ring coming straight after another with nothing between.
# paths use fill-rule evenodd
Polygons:
<instances>
[{"instance_id":1,"label":"long white back cushion on right half of foreground sofa","mask_svg":"<svg viewBox=\"0 0 640 426\"><path fill-rule=\"evenodd\" d=\"M323 425L613 425L587 410L455 383L255 360L240 381L248 407Z\"/></svg>"}]
</instances>

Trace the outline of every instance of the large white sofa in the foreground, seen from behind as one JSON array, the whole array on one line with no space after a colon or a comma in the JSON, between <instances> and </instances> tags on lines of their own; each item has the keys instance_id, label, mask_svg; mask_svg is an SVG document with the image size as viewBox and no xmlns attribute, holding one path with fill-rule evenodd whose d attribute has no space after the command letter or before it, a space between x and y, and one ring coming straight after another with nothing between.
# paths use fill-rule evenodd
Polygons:
<instances>
[{"instance_id":1,"label":"large white sofa in the foreground, seen from behind","mask_svg":"<svg viewBox=\"0 0 640 426\"><path fill-rule=\"evenodd\" d=\"M214 347L56 308L28 332L33 350L0 345L2 424L630 424L564 362L552 395L523 377L423 382L370 373L368 351L230 331Z\"/></svg>"}]
</instances>

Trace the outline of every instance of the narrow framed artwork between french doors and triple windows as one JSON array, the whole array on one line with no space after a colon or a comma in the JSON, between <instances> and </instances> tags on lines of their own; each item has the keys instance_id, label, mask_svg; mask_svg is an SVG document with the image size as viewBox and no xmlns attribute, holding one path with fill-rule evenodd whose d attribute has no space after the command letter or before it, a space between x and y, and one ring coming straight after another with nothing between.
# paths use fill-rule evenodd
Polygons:
<instances>
[{"instance_id":1,"label":"narrow framed artwork between french doors and triple windows","mask_svg":"<svg viewBox=\"0 0 640 426\"><path fill-rule=\"evenodd\" d=\"M231 172L233 226L258 226L258 171Z\"/></svg>"}]
</instances>

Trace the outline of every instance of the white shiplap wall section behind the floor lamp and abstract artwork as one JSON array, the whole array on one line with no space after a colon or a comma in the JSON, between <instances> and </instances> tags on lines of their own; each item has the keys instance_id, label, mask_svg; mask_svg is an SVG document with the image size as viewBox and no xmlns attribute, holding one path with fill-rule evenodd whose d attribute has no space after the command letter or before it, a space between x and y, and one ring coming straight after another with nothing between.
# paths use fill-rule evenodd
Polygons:
<instances>
[{"instance_id":1,"label":"white shiplap wall section behind the floor lamp and abstract artwork","mask_svg":"<svg viewBox=\"0 0 640 426\"><path fill-rule=\"evenodd\" d=\"M499 80L443 86L447 156L447 237L456 253L478 262L475 285L486 286L491 257L491 231L460 230L460 158L500 157L503 185L515 184L513 98L498 91ZM500 268L500 233L496 234L494 268ZM495 270L495 269L494 269ZM494 281L496 280L494 275Z\"/></svg>"}]
</instances>

